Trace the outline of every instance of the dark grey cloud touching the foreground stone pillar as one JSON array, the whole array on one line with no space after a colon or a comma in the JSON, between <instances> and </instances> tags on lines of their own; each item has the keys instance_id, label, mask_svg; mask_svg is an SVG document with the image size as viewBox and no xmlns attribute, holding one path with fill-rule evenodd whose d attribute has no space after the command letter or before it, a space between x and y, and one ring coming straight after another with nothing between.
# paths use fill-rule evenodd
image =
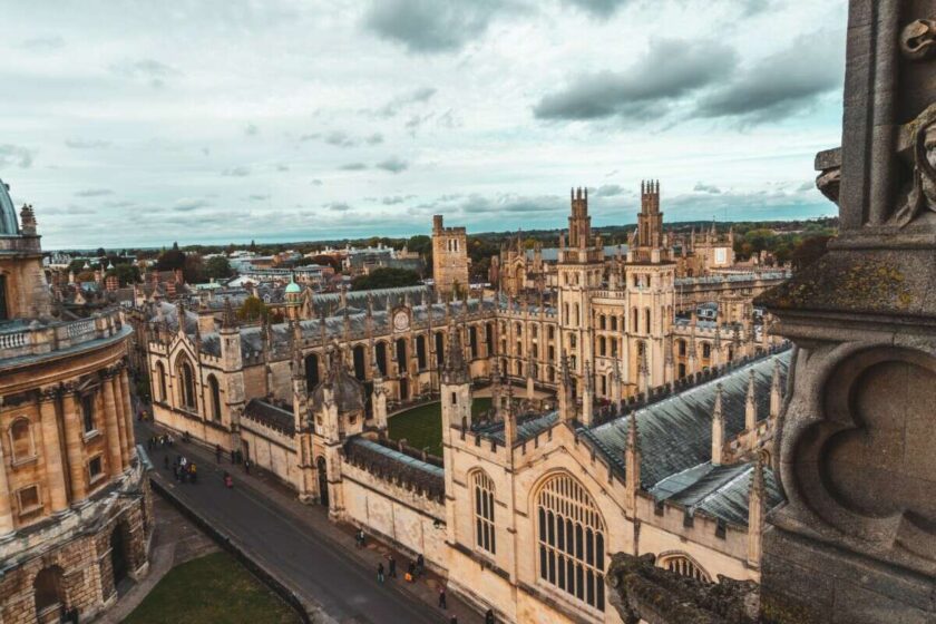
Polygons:
<instances>
[{"instance_id":1,"label":"dark grey cloud touching the foreground stone pillar","mask_svg":"<svg viewBox=\"0 0 936 624\"><path fill-rule=\"evenodd\" d=\"M760 124L808 109L823 95L841 88L842 36L823 30L798 37L788 49L754 64L702 98L698 115Z\"/></svg>"}]
</instances>

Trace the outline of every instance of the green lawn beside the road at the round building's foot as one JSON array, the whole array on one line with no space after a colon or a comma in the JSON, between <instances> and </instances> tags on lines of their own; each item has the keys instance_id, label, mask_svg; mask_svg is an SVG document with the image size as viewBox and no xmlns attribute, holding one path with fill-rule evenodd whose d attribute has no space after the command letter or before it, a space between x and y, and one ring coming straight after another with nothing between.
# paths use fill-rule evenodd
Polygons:
<instances>
[{"instance_id":1,"label":"green lawn beside the road at the round building's foot","mask_svg":"<svg viewBox=\"0 0 936 624\"><path fill-rule=\"evenodd\" d=\"M299 615L227 553L173 568L125 621L127 624L295 624Z\"/></svg>"}]
</instances>

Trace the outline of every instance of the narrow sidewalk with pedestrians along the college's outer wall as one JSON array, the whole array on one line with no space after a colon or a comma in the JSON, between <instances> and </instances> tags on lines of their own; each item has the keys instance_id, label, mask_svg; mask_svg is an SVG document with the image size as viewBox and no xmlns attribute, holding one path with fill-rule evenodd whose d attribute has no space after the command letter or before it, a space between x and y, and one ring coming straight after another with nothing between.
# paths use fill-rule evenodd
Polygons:
<instances>
[{"instance_id":1,"label":"narrow sidewalk with pedestrians along the college's outer wall","mask_svg":"<svg viewBox=\"0 0 936 624\"><path fill-rule=\"evenodd\" d=\"M137 422L137 441L146 445L146 440L154 433L165 432L158 426L152 423ZM184 455L188 459L194 459L198 467L198 485L178 486L184 488L203 487L205 481L221 480L224 471L230 471L234 478L234 487L246 487L255 495L269 501L271 507L275 507L277 513L289 516L310 532L313 532L330 543L337 545L342 552L342 555L349 559L357 560L363 568L372 571L371 574L377 576L377 566L383 563L384 569L388 572L386 585L394 591L408 596L410 599L423 603L430 611L438 614L439 622L449 622L449 618L455 615L458 617L459 624L482 622L484 616L475 612L467 604L458 599L455 595L448 594L448 610L438 608L439 586L445 583L445 579L436 574L427 571L427 573L415 583L406 583L402 581L409 565L409 558L391 547L378 543L372 537L368 536L367 547L358 548L354 542L354 532L357 527L350 524L337 525L329 520L328 510L318 505L304 505L299 501L295 494L285 485L280 482L274 476L257 469L255 466L247 475L243 466L232 465L230 462L230 455L222 459L221 464L215 462L215 455L197 442L182 442L176 439L174 446L167 449L170 461L176 455ZM163 468L163 456L166 451L154 449L150 452L153 464L155 466L155 478L160 479L164 484L173 484L175 481L170 471ZM397 578L389 577L389 566L387 557L392 554L397 559ZM309 599L314 599L313 596L306 596Z\"/></svg>"}]
</instances>

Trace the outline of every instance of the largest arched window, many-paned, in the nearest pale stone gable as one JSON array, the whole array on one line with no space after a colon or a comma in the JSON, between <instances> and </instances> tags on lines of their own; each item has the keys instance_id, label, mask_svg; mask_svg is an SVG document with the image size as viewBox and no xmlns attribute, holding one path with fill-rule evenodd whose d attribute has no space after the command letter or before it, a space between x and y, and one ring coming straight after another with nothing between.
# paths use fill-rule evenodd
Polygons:
<instances>
[{"instance_id":1,"label":"largest arched window, many-paned, in the nearest pale stone gable","mask_svg":"<svg viewBox=\"0 0 936 624\"><path fill-rule=\"evenodd\" d=\"M539 578L604 611L604 521L585 488L556 475L536 495Z\"/></svg>"}]
</instances>

